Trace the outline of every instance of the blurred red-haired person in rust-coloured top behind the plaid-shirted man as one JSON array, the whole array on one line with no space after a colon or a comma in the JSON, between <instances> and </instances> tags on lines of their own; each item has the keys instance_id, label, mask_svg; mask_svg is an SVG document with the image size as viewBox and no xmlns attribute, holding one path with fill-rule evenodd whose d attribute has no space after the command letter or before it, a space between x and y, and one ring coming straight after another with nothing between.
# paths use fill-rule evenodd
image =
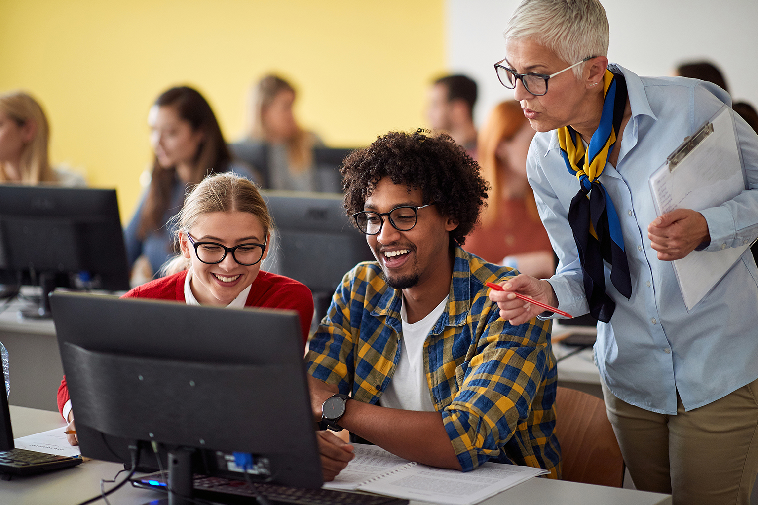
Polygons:
<instances>
[{"instance_id":1,"label":"blurred red-haired person in rust-coloured top behind the plaid-shirted man","mask_svg":"<svg viewBox=\"0 0 758 505\"><path fill-rule=\"evenodd\" d=\"M466 251L543 279L555 273L550 239L526 179L526 155L534 129L518 101L497 104L479 132L479 165L492 187L481 224L466 238Z\"/></svg>"}]
</instances>

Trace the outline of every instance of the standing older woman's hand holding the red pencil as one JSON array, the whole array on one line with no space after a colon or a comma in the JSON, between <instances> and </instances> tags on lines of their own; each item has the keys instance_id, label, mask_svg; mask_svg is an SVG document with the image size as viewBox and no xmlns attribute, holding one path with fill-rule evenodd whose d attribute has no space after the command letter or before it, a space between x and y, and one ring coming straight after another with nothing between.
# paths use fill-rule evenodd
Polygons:
<instances>
[{"instance_id":1,"label":"standing older woman's hand holding the red pencil","mask_svg":"<svg viewBox=\"0 0 758 505\"><path fill-rule=\"evenodd\" d=\"M530 304L528 301L519 300L516 298L516 291L553 307L558 306L558 298L550 282L535 279L525 273L503 283L503 289L505 291L490 290L490 300L496 302L497 306L500 307L500 317L508 320L513 326L526 323L545 310L542 307Z\"/></svg>"}]
</instances>

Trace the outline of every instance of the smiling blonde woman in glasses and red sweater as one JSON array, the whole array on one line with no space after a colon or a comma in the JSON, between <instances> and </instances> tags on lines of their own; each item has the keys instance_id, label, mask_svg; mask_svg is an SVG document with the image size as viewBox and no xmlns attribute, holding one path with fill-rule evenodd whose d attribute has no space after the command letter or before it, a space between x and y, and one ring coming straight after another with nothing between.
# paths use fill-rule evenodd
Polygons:
<instances>
[{"instance_id":1,"label":"smiling blonde woman in glasses and red sweater","mask_svg":"<svg viewBox=\"0 0 758 505\"><path fill-rule=\"evenodd\" d=\"M296 280L261 270L273 221L249 179L233 173L206 177L187 195L176 225L181 253L167 263L167 275L133 288L123 298L297 310L305 346L313 295ZM73 429L65 377L58 388L58 409ZM69 435L69 441L77 444L74 435Z\"/></svg>"}]
</instances>

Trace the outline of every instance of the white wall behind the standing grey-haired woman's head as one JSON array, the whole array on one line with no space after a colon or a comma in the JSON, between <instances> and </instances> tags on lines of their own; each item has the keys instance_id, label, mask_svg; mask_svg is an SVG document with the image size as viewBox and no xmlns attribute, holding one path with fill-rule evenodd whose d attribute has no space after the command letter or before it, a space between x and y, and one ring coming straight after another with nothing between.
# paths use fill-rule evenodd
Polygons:
<instances>
[{"instance_id":1,"label":"white wall behind the standing grey-haired woman's head","mask_svg":"<svg viewBox=\"0 0 758 505\"><path fill-rule=\"evenodd\" d=\"M669 75L707 59L725 74L735 101L758 107L756 0L601 0L610 23L609 59L641 76ZM475 121L512 98L492 64L505 56L503 29L518 0L446 0L447 64L479 85Z\"/></svg>"}]
</instances>

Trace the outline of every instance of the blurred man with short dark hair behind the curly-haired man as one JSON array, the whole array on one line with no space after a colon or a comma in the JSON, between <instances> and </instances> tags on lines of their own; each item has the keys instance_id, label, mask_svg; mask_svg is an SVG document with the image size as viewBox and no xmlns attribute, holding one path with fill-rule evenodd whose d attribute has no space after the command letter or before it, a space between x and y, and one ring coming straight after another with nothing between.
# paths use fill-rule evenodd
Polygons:
<instances>
[{"instance_id":1,"label":"blurred man with short dark hair behind the curly-haired man","mask_svg":"<svg viewBox=\"0 0 758 505\"><path fill-rule=\"evenodd\" d=\"M477 86L463 75L444 76L435 80L429 90L427 119L432 129L446 132L476 159L476 127L474 104Z\"/></svg>"}]
</instances>

